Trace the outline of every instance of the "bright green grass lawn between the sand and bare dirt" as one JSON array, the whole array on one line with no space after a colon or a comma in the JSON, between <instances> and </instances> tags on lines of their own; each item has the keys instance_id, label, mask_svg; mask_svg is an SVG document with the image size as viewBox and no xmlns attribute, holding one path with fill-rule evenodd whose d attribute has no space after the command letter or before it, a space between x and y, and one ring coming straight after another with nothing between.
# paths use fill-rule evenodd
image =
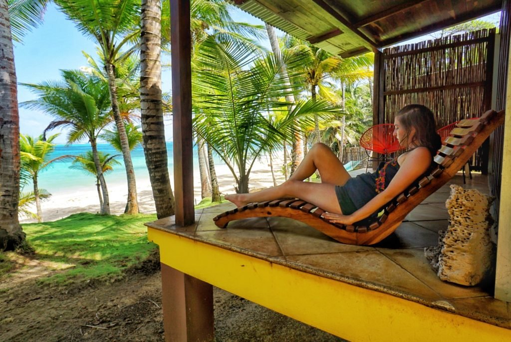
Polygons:
<instances>
[{"instance_id":1,"label":"bright green grass lawn between the sand and bare dirt","mask_svg":"<svg viewBox=\"0 0 511 342\"><path fill-rule=\"evenodd\" d=\"M222 201L224 202L225 200ZM210 207L211 198L204 198L196 209ZM97 215L80 213L43 223L23 224L28 244L35 250L35 259L46 267L58 270L40 283L66 284L88 279L113 281L123 271L145 260L157 245L147 240L146 222L152 215ZM0 278L16 267L15 253L0 253ZM29 267L29 266L24 266Z\"/></svg>"}]
</instances>

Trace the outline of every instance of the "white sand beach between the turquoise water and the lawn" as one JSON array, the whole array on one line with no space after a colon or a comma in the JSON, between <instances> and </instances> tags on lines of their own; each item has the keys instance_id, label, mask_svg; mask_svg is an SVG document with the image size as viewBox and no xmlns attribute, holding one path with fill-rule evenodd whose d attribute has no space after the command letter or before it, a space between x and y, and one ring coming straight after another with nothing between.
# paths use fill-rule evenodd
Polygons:
<instances>
[{"instance_id":1,"label":"white sand beach between the turquoise water and the lawn","mask_svg":"<svg viewBox=\"0 0 511 342\"><path fill-rule=\"evenodd\" d=\"M281 171L282 161L274 161L274 172L277 183L284 181L284 175ZM222 194L235 192L234 177L226 165L216 165L215 170L218 178L218 185ZM171 179L173 183L173 180ZM109 185L108 193L110 197L110 209L114 215L124 212L128 188L126 183ZM261 189L273 186L269 162L263 158L261 162L256 162L250 172L250 189ZM138 205L140 212L144 214L155 213L154 200L151 191L151 184L148 178L136 179L138 194ZM174 188L173 188L174 189ZM196 203L201 200L200 195L200 177L199 170L194 170L194 195ZM79 192L60 192L52 193L49 200L41 202L43 221L55 221L75 213L98 213L100 211L98 192L95 186L82 188ZM36 212L35 204L31 208ZM20 223L36 222L32 218L20 216Z\"/></svg>"}]
</instances>

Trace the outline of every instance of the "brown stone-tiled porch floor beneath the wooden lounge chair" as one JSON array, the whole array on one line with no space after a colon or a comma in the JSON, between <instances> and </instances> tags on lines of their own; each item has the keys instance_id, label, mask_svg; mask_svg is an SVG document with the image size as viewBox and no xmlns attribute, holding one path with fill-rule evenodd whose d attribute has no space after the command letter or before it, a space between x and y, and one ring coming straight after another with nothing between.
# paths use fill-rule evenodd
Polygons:
<instances>
[{"instance_id":1,"label":"brown stone-tiled porch floor beneath the wooden lounge chair","mask_svg":"<svg viewBox=\"0 0 511 342\"><path fill-rule=\"evenodd\" d=\"M437 232L448 225L445 201L450 184L463 185L461 174L410 212L392 235L373 246L342 244L304 223L282 217L238 220L219 229L213 217L233 209L229 203L198 210L197 223L189 227L176 229L172 218L149 225L511 329L511 303L493 299L492 284L466 287L443 282L424 256L424 247L436 245ZM474 174L464 187L487 193L487 178Z\"/></svg>"}]
</instances>

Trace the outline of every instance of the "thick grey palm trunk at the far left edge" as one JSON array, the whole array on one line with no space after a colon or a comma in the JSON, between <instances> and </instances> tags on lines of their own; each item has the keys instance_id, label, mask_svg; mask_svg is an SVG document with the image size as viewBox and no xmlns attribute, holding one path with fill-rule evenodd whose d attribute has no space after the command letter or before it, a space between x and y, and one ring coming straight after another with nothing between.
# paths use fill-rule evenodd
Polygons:
<instances>
[{"instance_id":1,"label":"thick grey palm trunk at the far left edge","mask_svg":"<svg viewBox=\"0 0 511 342\"><path fill-rule=\"evenodd\" d=\"M19 115L7 0L0 0L0 250L25 241L18 220Z\"/></svg>"}]
</instances>

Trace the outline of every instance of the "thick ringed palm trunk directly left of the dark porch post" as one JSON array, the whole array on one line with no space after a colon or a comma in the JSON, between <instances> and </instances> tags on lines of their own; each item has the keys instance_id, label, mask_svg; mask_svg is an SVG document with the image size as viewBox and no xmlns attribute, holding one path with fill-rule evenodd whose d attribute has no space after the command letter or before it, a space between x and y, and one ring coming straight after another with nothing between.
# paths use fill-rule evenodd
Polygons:
<instances>
[{"instance_id":1,"label":"thick ringed palm trunk directly left of the dark porch post","mask_svg":"<svg viewBox=\"0 0 511 342\"><path fill-rule=\"evenodd\" d=\"M161 103L160 18L160 1L143 0L140 49L141 123L144 155L158 218L175 213Z\"/></svg>"}]
</instances>

